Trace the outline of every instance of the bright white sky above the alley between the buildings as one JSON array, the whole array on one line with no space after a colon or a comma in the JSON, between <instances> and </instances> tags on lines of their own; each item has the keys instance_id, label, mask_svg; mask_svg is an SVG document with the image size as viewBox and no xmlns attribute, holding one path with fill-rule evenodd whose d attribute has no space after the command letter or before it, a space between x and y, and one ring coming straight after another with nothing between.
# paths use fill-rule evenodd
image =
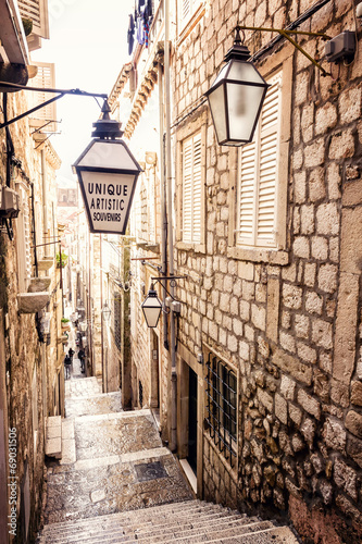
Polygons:
<instances>
[{"instance_id":1,"label":"bright white sky above the alley between the buildings","mask_svg":"<svg viewBox=\"0 0 362 544\"><path fill-rule=\"evenodd\" d=\"M109 95L130 60L127 28L133 11L134 0L49 0L50 39L32 58L55 63L57 88ZM57 112L62 134L51 143L62 160L60 173L72 178L71 165L90 141L100 110L93 98L65 96L58 100Z\"/></svg>"}]
</instances>

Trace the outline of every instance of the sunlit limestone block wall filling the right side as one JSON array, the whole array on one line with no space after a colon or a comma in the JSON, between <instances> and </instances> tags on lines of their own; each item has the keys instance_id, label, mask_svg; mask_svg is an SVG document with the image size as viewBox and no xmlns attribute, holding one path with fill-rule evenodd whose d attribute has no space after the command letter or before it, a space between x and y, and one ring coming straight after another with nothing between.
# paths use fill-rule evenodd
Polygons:
<instances>
[{"instance_id":1,"label":"sunlit limestone block wall filling the right side","mask_svg":"<svg viewBox=\"0 0 362 544\"><path fill-rule=\"evenodd\" d=\"M197 101L220 71L237 22L280 28L313 4L209 2L173 54L173 116L191 112L180 128L201 115ZM354 30L353 10L350 2L330 0L301 29L330 36ZM246 38L255 52L271 36L248 32ZM321 40L299 42L323 55ZM208 343L238 374L237 468L227 467L205 431L205 498L288 515L305 540L357 543L362 535L361 62L339 67L324 62L335 79L323 78L283 44L258 66L269 74L287 59L284 244L278 251L235 249L230 201L237 152L217 146L209 114L204 250L176 244L175 251L177 274L188 275L177 290L184 302L179 336L195 356ZM176 218L180 221L179 209Z\"/></svg>"}]
</instances>

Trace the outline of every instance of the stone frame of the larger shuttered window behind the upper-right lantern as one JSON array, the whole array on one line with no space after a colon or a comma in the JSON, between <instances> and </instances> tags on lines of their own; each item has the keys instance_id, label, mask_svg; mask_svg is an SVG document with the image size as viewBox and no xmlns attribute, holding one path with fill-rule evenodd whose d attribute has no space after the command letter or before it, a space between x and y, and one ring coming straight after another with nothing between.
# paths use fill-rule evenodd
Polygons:
<instances>
[{"instance_id":1,"label":"stone frame of the larger shuttered window behind the upper-right lantern","mask_svg":"<svg viewBox=\"0 0 362 544\"><path fill-rule=\"evenodd\" d=\"M292 96L292 51L283 49L278 53L265 60L258 70L265 79L273 76L278 71L283 72L282 104L283 111L288 111L289 115L282 115L280 136L278 152L278 217L276 222L276 247L263 248L257 246L237 245L237 188L238 188L238 149L230 152L234 170L230 171L232 183L228 195L229 221L228 221L228 246L227 257L251 262L267 262L272 264L286 265L289 263L289 252L287 246L287 217L288 217L288 177L289 177L289 145L291 137L291 96ZM233 153L233 154L232 154Z\"/></svg>"}]
</instances>

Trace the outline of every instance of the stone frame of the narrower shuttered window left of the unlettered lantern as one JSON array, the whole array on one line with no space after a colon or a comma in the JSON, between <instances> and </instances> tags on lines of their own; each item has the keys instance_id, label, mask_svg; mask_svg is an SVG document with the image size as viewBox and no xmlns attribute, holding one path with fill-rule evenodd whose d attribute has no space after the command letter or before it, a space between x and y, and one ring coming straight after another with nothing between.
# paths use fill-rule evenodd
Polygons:
<instances>
[{"instance_id":1,"label":"stone frame of the narrower shuttered window left of the unlettered lantern","mask_svg":"<svg viewBox=\"0 0 362 544\"><path fill-rule=\"evenodd\" d=\"M194 250L199 254L205 254L205 172L207 172L207 129L208 129L208 110L204 109L200 115L180 126L176 133L176 249ZM192 134L201 132L201 236L200 243L183 242L183 143Z\"/></svg>"}]
</instances>

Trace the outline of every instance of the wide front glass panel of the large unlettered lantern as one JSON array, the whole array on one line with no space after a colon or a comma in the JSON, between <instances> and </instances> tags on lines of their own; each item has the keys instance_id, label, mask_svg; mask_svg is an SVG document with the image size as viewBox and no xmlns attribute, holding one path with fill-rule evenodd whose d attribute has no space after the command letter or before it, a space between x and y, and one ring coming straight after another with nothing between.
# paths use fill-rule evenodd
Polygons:
<instances>
[{"instance_id":1,"label":"wide front glass panel of the large unlettered lantern","mask_svg":"<svg viewBox=\"0 0 362 544\"><path fill-rule=\"evenodd\" d=\"M250 141L264 95L263 87L227 83L229 139Z\"/></svg>"}]
</instances>

